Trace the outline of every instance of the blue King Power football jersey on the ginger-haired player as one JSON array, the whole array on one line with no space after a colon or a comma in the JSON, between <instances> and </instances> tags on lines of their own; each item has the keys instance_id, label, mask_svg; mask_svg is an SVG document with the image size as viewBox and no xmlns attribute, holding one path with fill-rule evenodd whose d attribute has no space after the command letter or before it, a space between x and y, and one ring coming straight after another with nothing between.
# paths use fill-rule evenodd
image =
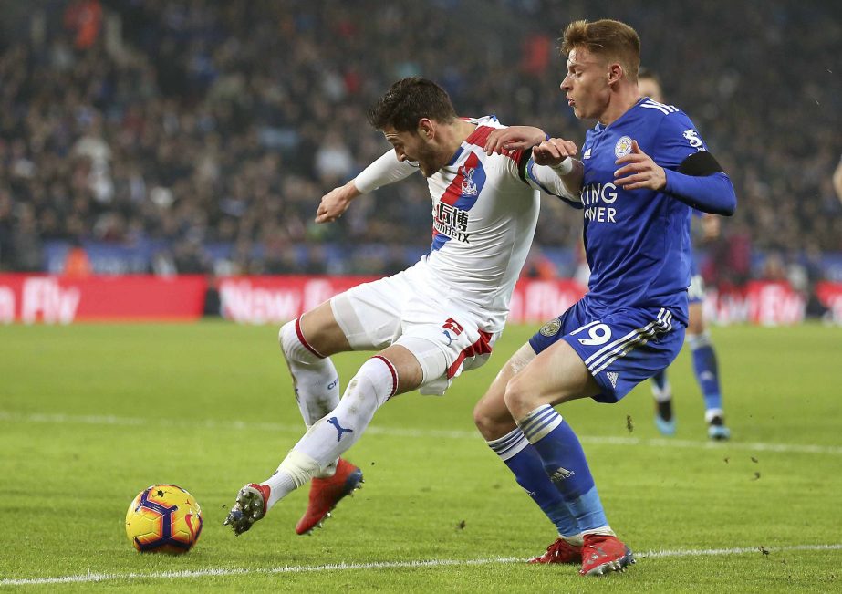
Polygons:
<instances>
[{"instance_id":1,"label":"blue King Power football jersey on the ginger-haired player","mask_svg":"<svg viewBox=\"0 0 842 594\"><path fill-rule=\"evenodd\" d=\"M690 285L691 207L649 189L614 185L615 163L631 141L664 169L677 170L688 156L706 151L680 109L642 98L608 126L587 131L582 206L590 282L585 297L597 311L619 307L668 307L687 322Z\"/></svg>"}]
</instances>

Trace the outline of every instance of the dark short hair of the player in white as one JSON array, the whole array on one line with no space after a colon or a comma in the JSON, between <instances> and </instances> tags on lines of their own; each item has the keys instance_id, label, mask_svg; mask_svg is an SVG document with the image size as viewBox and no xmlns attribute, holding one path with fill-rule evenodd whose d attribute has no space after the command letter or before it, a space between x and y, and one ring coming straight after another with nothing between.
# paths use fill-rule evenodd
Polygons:
<instances>
[{"instance_id":1,"label":"dark short hair of the player in white","mask_svg":"<svg viewBox=\"0 0 842 594\"><path fill-rule=\"evenodd\" d=\"M390 126L399 132L418 128L422 118L449 123L456 118L451 98L439 85L421 77L401 78L369 109L369 123L377 130Z\"/></svg>"}]
</instances>

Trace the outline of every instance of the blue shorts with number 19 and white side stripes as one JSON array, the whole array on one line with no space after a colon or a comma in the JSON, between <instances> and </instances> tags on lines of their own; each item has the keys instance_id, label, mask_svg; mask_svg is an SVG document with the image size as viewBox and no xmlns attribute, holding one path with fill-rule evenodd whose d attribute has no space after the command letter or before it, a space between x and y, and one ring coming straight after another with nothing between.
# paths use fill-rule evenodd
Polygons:
<instances>
[{"instance_id":1,"label":"blue shorts with number 19 and white side stripes","mask_svg":"<svg viewBox=\"0 0 842 594\"><path fill-rule=\"evenodd\" d=\"M663 307L623 307L597 316L587 297L548 321L529 344L540 353L564 339L597 380L598 402L617 402L667 369L684 344L684 323Z\"/></svg>"}]
</instances>

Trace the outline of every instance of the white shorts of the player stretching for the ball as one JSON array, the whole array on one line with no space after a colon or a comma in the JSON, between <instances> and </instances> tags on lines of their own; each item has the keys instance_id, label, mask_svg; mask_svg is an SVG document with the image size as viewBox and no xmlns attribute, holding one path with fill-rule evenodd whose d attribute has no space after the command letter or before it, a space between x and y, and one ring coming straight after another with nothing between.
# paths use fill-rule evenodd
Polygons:
<instances>
[{"instance_id":1,"label":"white shorts of the player stretching for the ball","mask_svg":"<svg viewBox=\"0 0 842 594\"><path fill-rule=\"evenodd\" d=\"M409 349L423 370L422 394L442 395L463 370L482 366L500 334L480 328L478 313L436 295L422 262L348 289L331 298L330 307L351 349L396 343Z\"/></svg>"}]
</instances>

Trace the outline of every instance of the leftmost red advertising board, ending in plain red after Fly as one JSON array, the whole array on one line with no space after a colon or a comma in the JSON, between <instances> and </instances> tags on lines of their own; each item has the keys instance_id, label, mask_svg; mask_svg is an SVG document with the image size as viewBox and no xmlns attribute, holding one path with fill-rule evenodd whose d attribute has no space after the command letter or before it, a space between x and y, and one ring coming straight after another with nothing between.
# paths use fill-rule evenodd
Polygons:
<instances>
[{"instance_id":1,"label":"leftmost red advertising board, ending in plain red after Fly","mask_svg":"<svg viewBox=\"0 0 842 594\"><path fill-rule=\"evenodd\" d=\"M202 316L204 276L0 275L0 323L190 321Z\"/></svg>"}]
</instances>

